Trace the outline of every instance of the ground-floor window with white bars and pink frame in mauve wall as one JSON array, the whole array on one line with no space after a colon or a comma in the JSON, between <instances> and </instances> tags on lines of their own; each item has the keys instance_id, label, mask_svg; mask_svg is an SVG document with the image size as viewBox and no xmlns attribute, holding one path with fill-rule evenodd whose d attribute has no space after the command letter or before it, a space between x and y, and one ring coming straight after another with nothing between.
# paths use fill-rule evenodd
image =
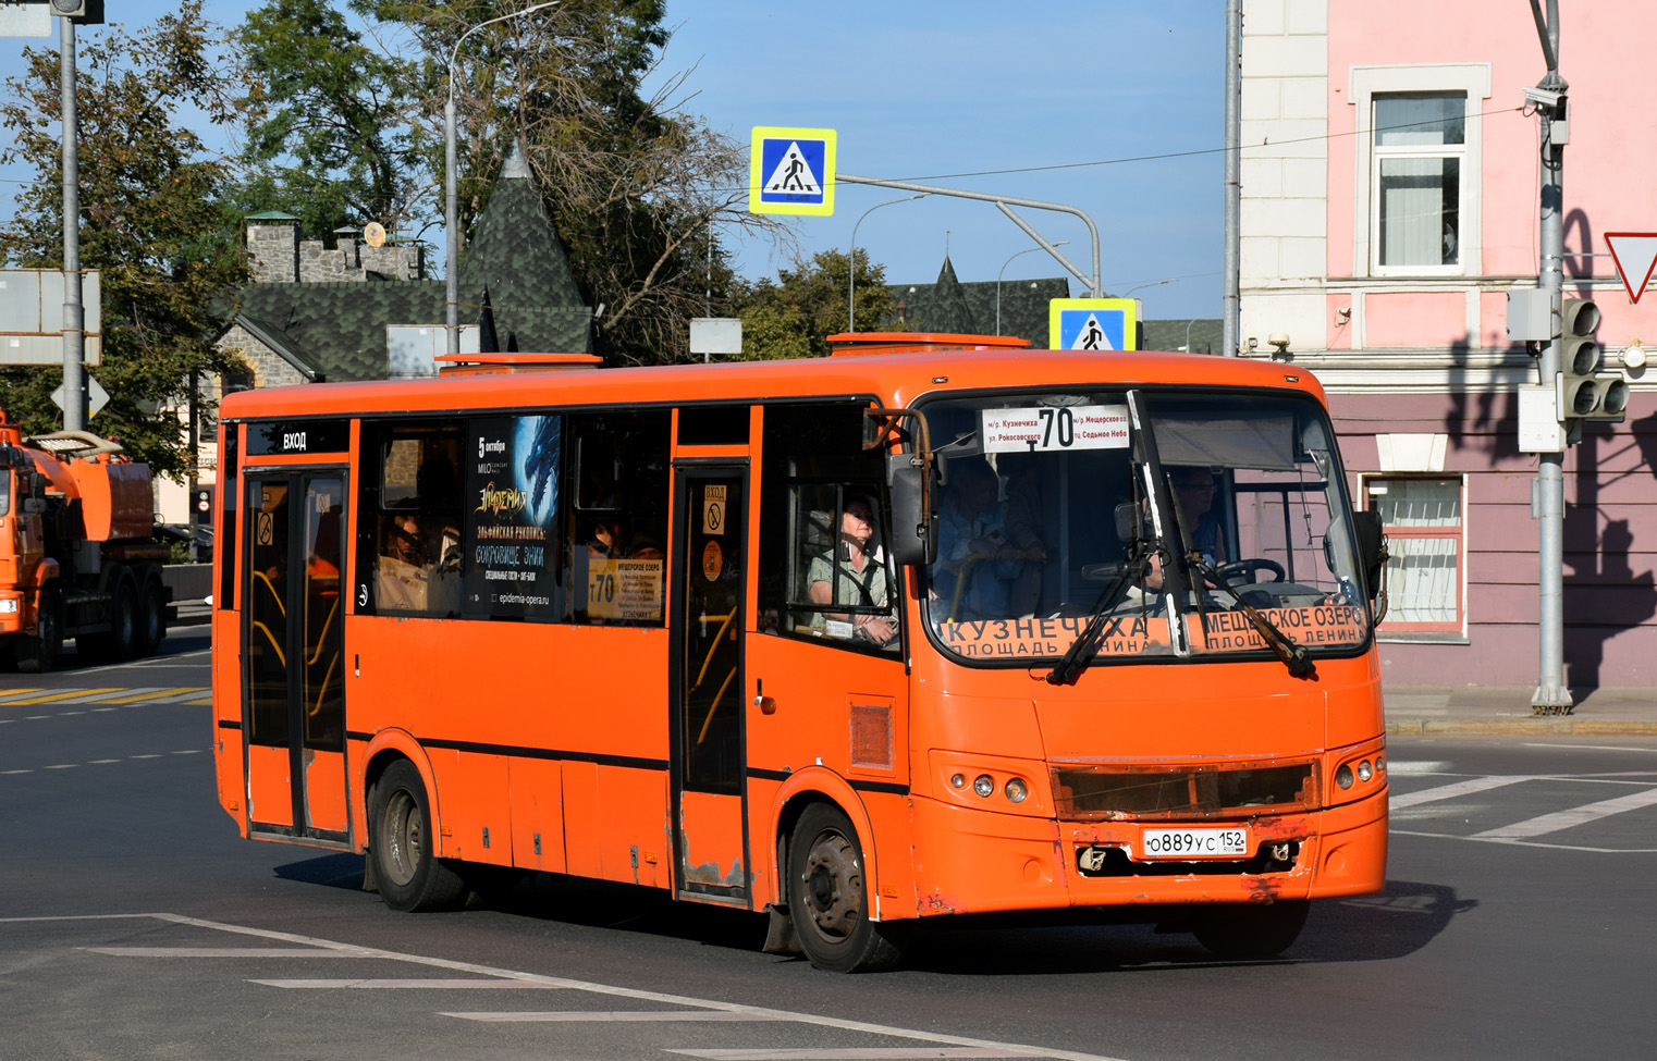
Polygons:
<instances>
[{"instance_id":1,"label":"ground-floor window with white bars and pink frame in mauve wall","mask_svg":"<svg viewBox=\"0 0 1657 1061\"><path fill-rule=\"evenodd\" d=\"M1461 632L1466 607L1461 477L1372 477L1365 488L1392 553L1382 632Z\"/></svg>"}]
</instances>

